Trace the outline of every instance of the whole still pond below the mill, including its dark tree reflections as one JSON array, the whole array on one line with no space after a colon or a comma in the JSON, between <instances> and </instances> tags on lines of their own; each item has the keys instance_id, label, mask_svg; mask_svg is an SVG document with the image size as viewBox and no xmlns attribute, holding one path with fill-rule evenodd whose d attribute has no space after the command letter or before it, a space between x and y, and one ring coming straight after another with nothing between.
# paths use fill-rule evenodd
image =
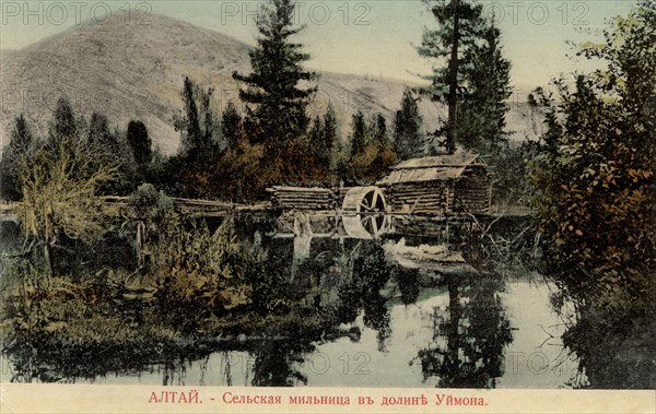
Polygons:
<instances>
[{"instance_id":1,"label":"whole still pond below the mill, including its dark tree reflections","mask_svg":"<svg viewBox=\"0 0 656 414\"><path fill-rule=\"evenodd\" d=\"M426 227L408 221L372 225L367 220L359 225L339 217L296 217L279 222L274 232L245 234L249 243L261 243L273 252L284 277L306 291L317 312L338 300L342 304L340 315L347 316L330 327L215 338L213 347L160 360L136 363L126 353L115 366L75 376L62 374L61 366L84 364L79 356L69 355L67 362L60 355L55 366L39 360L38 350L23 350L24 355L2 354L0 379L176 386L570 387L577 363L560 340L565 327L550 305L553 287L535 270L517 265L507 246L473 246L478 241L471 240L483 237L471 238L473 230L466 225ZM504 232L497 240L507 239ZM503 255L497 255L501 250ZM360 263L359 270L349 270L344 258ZM181 340L195 341L192 335ZM93 365L105 354L99 350L86 357Z\"/></svg>"}]
</instances>

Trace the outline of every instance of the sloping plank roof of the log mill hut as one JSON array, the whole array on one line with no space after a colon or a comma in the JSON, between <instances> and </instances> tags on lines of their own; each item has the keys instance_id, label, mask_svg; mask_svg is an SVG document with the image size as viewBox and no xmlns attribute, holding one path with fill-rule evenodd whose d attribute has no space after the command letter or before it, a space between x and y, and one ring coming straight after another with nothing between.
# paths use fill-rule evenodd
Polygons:
<instances>
[{"instance_id":1,"label":"sloping plank roof of the log mill hut","mask_svg":"<svg viewBox=\"0 0 656 414\"><path fill-rule=\"evenodd\" d=\"M478 155L466 152L407 159L391 167L391 173L377 185L455 179L475 165L487 168Z\"/></svg>"}]
</instances>

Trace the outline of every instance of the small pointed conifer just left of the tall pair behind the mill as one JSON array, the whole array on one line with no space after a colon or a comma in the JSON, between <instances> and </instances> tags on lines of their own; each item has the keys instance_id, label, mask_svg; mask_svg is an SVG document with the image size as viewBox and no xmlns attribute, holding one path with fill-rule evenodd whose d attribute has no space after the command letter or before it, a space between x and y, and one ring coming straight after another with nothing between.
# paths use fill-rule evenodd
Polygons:
<instances>
[{"instance_id":1,"label":"small pointed conifer just left of the tall pair behind the mill","mask_svg":"<svg viewBox=\"0 0 656 414\"><path fill-rule=\"evenodd\" d=\"M425 140L422 128L423 119L417 99L407 88L401 98L401 108L396 111L394 118L394 147L399 161L422 155Z\"/></svg>"}]
</instances>

